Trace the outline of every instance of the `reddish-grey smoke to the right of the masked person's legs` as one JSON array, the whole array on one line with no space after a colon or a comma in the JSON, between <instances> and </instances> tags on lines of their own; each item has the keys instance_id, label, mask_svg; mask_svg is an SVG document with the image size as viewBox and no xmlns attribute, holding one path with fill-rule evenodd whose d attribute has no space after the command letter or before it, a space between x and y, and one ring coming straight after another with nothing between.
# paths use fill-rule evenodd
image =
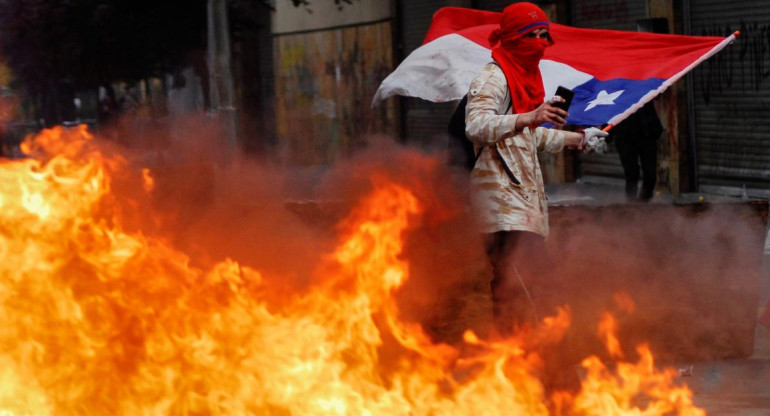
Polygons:
<instances>
[{"instance_id":1,"label":"reddish-grey smoke to the right of the masked person's legs","mask_svg":"<svg viewBox=\"0 0 770 416\"><path fill-rule=\"evenodd\" d=\"M611 310L629 354L639 343L669 364L752 354L761 204L558 207L551 224L574 332Z\"/></svg>"}]
</instances>

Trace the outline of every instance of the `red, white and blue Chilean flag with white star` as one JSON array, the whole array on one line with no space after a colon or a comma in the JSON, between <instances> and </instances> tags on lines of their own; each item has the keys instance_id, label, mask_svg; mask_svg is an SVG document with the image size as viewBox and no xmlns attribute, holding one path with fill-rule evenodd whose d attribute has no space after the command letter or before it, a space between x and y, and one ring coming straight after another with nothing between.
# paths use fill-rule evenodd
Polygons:
<instances>
[{"instance_id":1,"label":"red, white and blue Chilean flag with white star","mask_svg":"<svg viewBox=\"0 0 770 416\"><path fill-rule=\"evenodd\" d=\"M445 7L433 16L423 45L380 85L372 106L392 95L459 100L492 61L489 34L502 13ZM558 86L575 92L567 123L617 124L662 93L737 35L683 36L579 29L551 23L556 42L540 61L546 100Z\"/></svg>"}]
</instances>

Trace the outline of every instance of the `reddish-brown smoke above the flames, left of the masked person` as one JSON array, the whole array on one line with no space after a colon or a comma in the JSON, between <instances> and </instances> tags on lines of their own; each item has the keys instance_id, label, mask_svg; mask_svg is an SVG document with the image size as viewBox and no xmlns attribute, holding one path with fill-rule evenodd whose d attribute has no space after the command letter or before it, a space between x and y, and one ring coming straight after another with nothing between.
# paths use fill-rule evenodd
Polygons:
<instances>
[{"instance_id":1,"label":"reddish-brown smoke above the flames, left of the masked person","mask_svg":"<svg viewBox=\"0 0 770 416\"><path fill-rule=\"evenodd\" d=\"M473 325L484 331L488 305L457 296L477 287L482 300L487 295L480 235L465 198L467 173L448 169L442 154L373 136L334 165L287 166L230 152L221 126L204 117L140 131L122 134L115 147L134 172L149 171L154 189L144 210L125 214L193 264L232 259L264 273L277 291L312 288L314 272L339 242L341 222L377 181L387 180L413 192L422 210L404 236L410 278L396 294L402 318L444 341L459 340ZM125 180L114 191L138 201L138 188L135 179Z\"/></svg>"}]
</instances>

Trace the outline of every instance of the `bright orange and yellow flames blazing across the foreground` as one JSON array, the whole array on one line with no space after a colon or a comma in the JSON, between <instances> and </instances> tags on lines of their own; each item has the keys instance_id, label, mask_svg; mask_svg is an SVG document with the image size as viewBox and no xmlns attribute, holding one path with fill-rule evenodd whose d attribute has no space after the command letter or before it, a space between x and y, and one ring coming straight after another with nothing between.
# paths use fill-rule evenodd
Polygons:
<instances>
[{"instance_id":1,"label":"bright orange and yellow flames blazing across the foreground","mask_svg":"<svg viewBox=\"0 0 770 416\"><path fill-rule=\"evenodd\" d=\"M462 346L400 319L403 234L423 207L385 173L318 283L278 299L259 270L194 267L129 227L144 203L114 183L135 174L151 193L152 172L101 149L85 127L55 128L0 164L0 415L703 414L643 347L614 372L586 359L580 392L546 397L537 349L564 333L566 309Z\"/></svg>"}]
</instances>

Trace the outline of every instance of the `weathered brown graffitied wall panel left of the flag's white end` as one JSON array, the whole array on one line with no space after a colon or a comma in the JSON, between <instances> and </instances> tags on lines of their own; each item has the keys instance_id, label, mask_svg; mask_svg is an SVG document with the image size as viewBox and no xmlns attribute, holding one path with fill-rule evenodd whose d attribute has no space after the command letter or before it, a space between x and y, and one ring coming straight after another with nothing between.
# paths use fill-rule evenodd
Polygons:
<instances>
[{"instance_id":1,"label":"weathered brown graffitied wall panel left of the flag's white end","mask_svg":"<svg viewBox=\"0 0 770 416\"><path fill-rule=\"evenodd\" d=\"M393 68L389 22L275 38L276 127L284 154L324 164L364 145L369 134L396 134L394 104L371 109Z\"/></svg>"}]
</instances>

